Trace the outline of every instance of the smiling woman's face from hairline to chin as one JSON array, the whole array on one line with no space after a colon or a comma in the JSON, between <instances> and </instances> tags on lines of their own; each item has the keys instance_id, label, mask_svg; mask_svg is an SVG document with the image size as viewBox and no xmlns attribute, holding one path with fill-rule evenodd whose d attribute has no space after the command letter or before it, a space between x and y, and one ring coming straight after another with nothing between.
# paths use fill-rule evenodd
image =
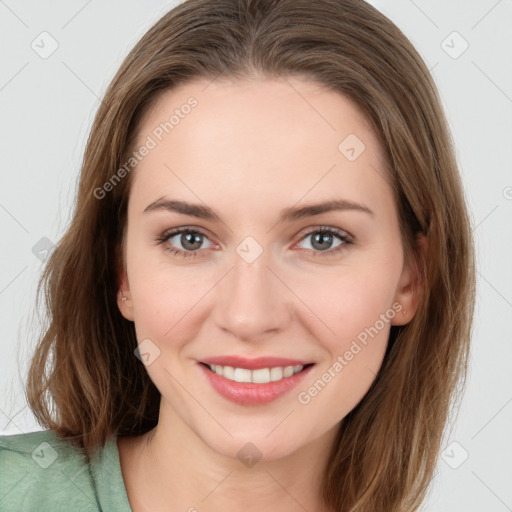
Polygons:
<instances>
[{"instance_id":1,"label":"smiling woman's face from hairline to chin","mask_svg":"<svg viewBox=\"0 0 512 512\"><path fill-rule=\"evenodd\" d=\"M367 119L299 78L196 81L159 97L144 145L119 307L159 427L172 417L219 454L250 442L267 460L332 435L415 308Z\"/></svg>"}]
</instances>

